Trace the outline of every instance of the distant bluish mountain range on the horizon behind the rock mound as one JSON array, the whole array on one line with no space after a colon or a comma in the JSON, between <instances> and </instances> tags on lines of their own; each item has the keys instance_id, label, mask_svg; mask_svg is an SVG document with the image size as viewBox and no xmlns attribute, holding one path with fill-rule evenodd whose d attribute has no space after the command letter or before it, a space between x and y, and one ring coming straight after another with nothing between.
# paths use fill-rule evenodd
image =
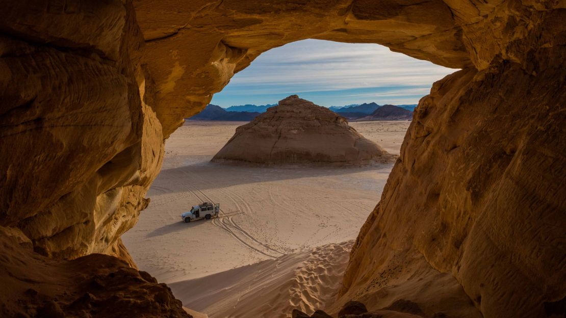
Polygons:
<instances>
[{"instance_id":1,"label":"distant bluish mountain range on the horizon behind the rock mound","mask_svg":"<svg viewBox=\"0 0 566 318\"><path fill-rule=\"evenodd\" d=\"M209 104L203 111L190 119L196 121L251 121L264 113L268 108L277 104L268 105L239 105L221 108ZM413 110L417 105L383 105L375 102L352 104L346 106L331 106L328 109L354 121L399 121L413 118Z\"/></svg>"}]
</instances>

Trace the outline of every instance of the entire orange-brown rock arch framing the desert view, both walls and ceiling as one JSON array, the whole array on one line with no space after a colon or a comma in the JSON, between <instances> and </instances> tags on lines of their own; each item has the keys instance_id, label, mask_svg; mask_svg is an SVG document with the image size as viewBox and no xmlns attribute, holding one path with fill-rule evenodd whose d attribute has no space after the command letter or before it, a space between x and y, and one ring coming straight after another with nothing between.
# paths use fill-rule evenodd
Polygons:
<instances>
[{"instance_id":1,"label":"entire orange-brown rock arch framing the desert view, both walls and ceiling","mask_svg":"<svg viewBox=\"0 0 566 318\"><path fill-rule=\"evenodd\" d=\"M128 267L120 237L149 204L164 139L183 118L262 52L306 38L462 68L419 101L336 307L324 309L405 299L429 317L447 306L442 286L456 286L474 305L466 315L563 315L565 9L539 0L3 2L2 315L186 317L166 286Z\"/></svg>"}]
</instances>

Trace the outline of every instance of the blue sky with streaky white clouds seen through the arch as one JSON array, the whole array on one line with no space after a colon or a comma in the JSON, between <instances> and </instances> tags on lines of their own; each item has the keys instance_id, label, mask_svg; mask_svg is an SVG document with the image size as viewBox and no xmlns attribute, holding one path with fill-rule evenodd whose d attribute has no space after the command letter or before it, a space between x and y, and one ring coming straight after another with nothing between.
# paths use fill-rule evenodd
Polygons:
<instances>
[{"instance_id":1,"label":"blue sky with streaky white clouds seen through the arch","mask_svg":"<svg viewBox=\"0 0 566 318\"><path fill-rule=\"evenodd\" d=\"M291 94L327 107L417 104L434 81L454 71L377 44L304 40L261 54L211 104L276 104Z\"/></svg>"}]
</instances>

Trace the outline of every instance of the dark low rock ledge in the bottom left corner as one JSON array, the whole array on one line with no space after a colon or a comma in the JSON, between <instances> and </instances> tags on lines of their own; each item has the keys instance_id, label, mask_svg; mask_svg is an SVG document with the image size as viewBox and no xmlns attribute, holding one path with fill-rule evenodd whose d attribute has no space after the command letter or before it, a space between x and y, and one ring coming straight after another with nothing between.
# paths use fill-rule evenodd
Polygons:
<instances>
[{"instance_id":1,"label":"dark low rock ledge in the bottom left corner","mask_svg":"<svg viewBox=\"0 0 566 318\"><path fill-rule=\"evenodd\" d=\"M3 317L191 317L167 285L116 257L54 260L24 237L0 227Z\"/></svg>"}]
</instances>

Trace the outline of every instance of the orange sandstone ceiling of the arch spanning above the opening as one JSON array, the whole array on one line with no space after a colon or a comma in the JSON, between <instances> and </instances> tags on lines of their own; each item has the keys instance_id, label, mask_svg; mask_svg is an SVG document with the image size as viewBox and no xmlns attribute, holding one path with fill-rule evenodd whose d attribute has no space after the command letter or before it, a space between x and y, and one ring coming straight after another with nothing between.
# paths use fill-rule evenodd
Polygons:
<instances>
[{"instance_id":1,"label":"orange sandstone ceiling of the arch spanning above the opening","mask_svg":"<svg viewBox=\"0 0 566 318\"><path fill-rule=\"evenodd\" d=\"M439 0L139 0L134 5L165 136L203 109L234 72L264 51L297 40L379 43L439 65L472 66L470 51L480 48L467 48L461 25L484 14L471 3Z\"/></svg>"}]
</instances>

